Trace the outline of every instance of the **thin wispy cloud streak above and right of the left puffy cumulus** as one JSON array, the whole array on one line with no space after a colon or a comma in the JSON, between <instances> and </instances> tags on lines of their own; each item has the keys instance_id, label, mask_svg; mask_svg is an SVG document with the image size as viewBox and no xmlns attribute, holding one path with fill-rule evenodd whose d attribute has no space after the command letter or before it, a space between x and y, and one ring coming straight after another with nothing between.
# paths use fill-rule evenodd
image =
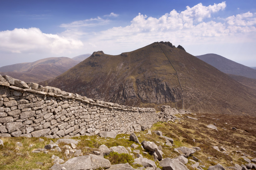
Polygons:
<instances>
[{"instance_id":1,"label":"thin wispy cloud streak above and right of the left puffy cumulus","mask_svg":"<svg viewBox=\"0 0 256 170\"><path fill-rule=\"evenodd\" d=\"M61 24L60 27L65 27L65 28L94 27L94 26L106 25L108 23L109 23L108 19L105 20L98 16L98 18L91 18L87 20L74 21L68 24Z\"/></svg>"}]
</instances>

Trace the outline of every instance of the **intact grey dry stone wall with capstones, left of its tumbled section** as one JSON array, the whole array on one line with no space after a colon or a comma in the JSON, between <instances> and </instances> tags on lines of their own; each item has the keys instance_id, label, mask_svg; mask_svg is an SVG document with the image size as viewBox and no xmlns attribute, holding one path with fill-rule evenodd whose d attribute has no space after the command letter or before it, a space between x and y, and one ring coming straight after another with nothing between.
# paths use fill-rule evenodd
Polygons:
<instances>
[{"instance_id":1,"label":"intact grey dry stone wall with capstones, left of its tumbled section","mask_svg":"<svg viewBox=\"0 0 256 170\"><path fill-rule=\"evenodd\" d=\"M0 137L73 137L140 131L158 122L154 108L86 98L0 75Z\"/></svg>"}]
</instances>

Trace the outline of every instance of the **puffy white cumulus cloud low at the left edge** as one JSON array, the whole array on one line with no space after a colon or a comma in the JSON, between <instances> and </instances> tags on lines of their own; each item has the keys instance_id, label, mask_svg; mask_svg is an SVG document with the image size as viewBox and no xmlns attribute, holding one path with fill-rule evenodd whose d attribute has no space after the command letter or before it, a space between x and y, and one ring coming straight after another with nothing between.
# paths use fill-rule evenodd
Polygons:
<instances>
[{"instance_id":1,"label":"puffy white cumulus cloud low at the left edge","mask_svg":"<svg viewBox=\"0 0 256 170\"><path fill-rule=\"evenodd\" d=\"M39 28L15 28L0 32L0 51L62 54L83 46L82 41L42 33Z\"/></svg>"}]
</instances>

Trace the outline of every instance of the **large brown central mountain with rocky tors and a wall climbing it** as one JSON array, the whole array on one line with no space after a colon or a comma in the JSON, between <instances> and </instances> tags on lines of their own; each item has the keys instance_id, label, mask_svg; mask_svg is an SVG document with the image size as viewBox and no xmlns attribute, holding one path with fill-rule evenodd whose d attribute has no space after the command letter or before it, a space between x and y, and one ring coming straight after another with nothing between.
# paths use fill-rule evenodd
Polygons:
<instances>
[{"instance_id":1,"label":"large brown central mountain with rocky tors and a wall climbing it","mask_svg":"<svg viewBox=\"0 0 256 170\"><path fill-rule=\"evenodd\" d=\"M41 82L129 106L170 105L200 113L255 116L256 93L170 42L108 55L94 52L67 72Z\"/></svg>"}]
</instances>

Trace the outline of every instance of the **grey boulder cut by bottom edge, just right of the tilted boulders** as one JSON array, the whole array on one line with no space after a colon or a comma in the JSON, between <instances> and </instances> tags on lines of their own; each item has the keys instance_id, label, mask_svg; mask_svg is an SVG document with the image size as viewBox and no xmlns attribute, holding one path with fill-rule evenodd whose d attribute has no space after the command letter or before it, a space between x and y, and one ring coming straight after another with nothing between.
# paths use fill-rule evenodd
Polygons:
<instances>
[{"instance_id":1,"label":"grey boulder cut by bottom edge, just right of the tilted boulders","mask_svg":"<svg viewBox=\"0 0 256 170\"><path fill-rule=\"evenodd\" d=\"M160 161L159 165L163 167L163 170L188 170L179 159L165 158Z\"/></svg>"}]
</instances>

